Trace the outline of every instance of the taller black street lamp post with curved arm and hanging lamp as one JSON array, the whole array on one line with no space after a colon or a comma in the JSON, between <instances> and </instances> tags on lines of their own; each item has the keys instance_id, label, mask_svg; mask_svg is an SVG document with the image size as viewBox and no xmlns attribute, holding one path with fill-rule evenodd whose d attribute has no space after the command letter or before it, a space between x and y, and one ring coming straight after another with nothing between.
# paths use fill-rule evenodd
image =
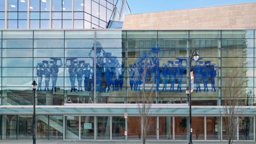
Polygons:
<instances>
[{"instance_id":1,"label":"taller black street lamp post with curved arm and hanging lamp","mask_svg":"<svg viewBox=\"0 0 256 144\"><path fill-rule=\"evenodd\" d=\"M194 54L195 52L195 54ZM195 61L198 60L199 54L197 53L197 50L195 49L192 52L192 57L194 58ZM188 100L189 100L189 142L188 144L193 144L192 142L192 117L191 117L191 79L190 79L190 72L191 72L191 62L192 62L192 57L189 55L188 57L188 88L186 89L186 94L188 95Z\"/></svg>"}]
</instances>

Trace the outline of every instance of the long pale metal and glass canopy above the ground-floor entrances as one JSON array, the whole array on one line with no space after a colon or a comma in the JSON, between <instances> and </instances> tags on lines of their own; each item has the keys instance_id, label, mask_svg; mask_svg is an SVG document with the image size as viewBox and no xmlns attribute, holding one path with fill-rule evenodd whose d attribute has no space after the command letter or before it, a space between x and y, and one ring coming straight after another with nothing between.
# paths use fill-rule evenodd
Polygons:
<instances>
[{"instance_id":1,"label":"long pale metal and glass canopy above the ground-floor entrances","mask_svg":"<svg viewBox=\"0 0 256 144\"><path fill-rule=\"evenodd\" d=\"M241 108L241 107L240 107ZM243 106L244 114L256 115L256 106ZM32 114L33 106L0 106L0 114ZM67 114L67 115L138 115L137 104L68 104L65 106L36 106L36 114ZM153 115L188 115L187 104L154 104ZM194 115L220 115L222 106L192 106Z\"/></svg>"}]
</instances>

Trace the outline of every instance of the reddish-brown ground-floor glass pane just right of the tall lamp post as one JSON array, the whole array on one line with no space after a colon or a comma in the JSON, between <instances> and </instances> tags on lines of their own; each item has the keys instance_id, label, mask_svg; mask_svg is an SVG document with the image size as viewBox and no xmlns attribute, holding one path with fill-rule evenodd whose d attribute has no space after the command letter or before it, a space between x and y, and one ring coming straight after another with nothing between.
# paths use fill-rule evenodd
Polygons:
<instances>
[{"instance_id":1,"label":"reddish-brown ground-floor glass pane just right of the tall lamp post","mask_svg":"<svg viewBox=\"0 0 256 144\"><path fill-rule=\"evenodd\" d=\"M192 139L204 140L204 117L193 116L192 117Z\"/></svg>"}]
</instances>

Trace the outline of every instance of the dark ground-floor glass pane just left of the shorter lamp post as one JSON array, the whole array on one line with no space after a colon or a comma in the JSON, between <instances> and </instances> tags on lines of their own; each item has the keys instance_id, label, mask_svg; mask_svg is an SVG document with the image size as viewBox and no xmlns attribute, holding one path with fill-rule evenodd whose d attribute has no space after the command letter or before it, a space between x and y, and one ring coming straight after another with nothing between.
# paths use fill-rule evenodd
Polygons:
<instances>
[{"instance_id":1,"label":"dark ground-floor glass pane just left of the shorter lamp post","mask_svg":"<svg viewBox=\"0 0 256 144\"><path fill-rule=\"evenodd\" d=\"M33 126L32 115L19 115L18 116L18 139L32 139L32 126Z\"/></svg>"}]
</instances>

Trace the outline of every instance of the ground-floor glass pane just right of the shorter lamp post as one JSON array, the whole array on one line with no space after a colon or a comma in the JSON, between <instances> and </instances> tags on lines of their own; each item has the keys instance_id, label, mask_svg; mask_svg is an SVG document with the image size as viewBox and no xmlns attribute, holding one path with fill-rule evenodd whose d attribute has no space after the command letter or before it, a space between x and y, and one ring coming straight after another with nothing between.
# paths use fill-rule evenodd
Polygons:
<instances>
[{"instance_id":1,"label":"ground-floor glass pane just right of the shorter lamp post","mask_svg":"<svg viewBox=\"0 0 256 144\"><path fill-rule=\"evenodd\" d=\"M48 115L36 116L36 138L48 140Z\"/></svg>"}]
</instances>

